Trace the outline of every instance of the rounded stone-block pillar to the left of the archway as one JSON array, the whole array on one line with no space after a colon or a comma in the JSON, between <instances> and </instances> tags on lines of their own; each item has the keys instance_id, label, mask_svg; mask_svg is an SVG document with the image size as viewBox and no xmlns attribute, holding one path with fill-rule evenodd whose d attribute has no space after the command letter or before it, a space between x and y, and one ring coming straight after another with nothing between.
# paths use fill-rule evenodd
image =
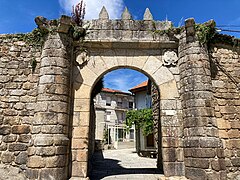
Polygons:
<instances>
[{"instance_id":1,"label":"rounded stone-block pillar to the left of the archway","mask_svg":"<svg viewBox=\"0 0 240 180\"><path fill-rule=\"evenodd\" d=\"M67 34L49 33L42 50L29 179L67 179L71 43Z\"/></svg>"}]
</instances>

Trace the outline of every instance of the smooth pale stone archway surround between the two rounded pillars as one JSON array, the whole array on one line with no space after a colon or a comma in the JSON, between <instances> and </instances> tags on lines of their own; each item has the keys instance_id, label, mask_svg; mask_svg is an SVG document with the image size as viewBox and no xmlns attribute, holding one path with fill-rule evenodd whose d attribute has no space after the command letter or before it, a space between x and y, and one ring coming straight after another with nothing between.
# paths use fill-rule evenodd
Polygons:
<instances>
[{"instance_id":1,"label":"smooth pale stone archway surround between the two rounded pillars","mask_svg":"<svg viewBox=\"0 0 240 180\"><path fill-rule=\"evenodd\" d=\"M82 63L82 53L76 57ZM162 51L136 49L91 49L87 63L74 67L74 112L71 151L72 177L87 177L91 91L106 73L131 68L146 74L160 90L163 168L166 176L184 175L183 149L180 147L182 121L176 73L163 65ZM176 69L175 69L176 70Z\"/></svg>"}]
</instances>

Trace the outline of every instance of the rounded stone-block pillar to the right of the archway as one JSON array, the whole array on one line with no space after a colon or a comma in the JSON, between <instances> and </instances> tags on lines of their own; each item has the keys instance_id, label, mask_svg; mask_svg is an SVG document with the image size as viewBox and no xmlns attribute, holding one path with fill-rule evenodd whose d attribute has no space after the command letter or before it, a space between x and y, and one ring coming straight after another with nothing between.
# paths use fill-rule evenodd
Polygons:
<instances>
[{"instance_id":1,"label":"rounded stone-block pillar to the right of the archway","mask_svg":"<svg viewBox=\"0 0 240 180\"><path fill-rule=\"evenodd\" d=\"M210 62L207 48L197 41L194 26L194 19L186 20L179 44L185 176L224 179L225 161L214 117Z\"/></svg>"}]
</instances>

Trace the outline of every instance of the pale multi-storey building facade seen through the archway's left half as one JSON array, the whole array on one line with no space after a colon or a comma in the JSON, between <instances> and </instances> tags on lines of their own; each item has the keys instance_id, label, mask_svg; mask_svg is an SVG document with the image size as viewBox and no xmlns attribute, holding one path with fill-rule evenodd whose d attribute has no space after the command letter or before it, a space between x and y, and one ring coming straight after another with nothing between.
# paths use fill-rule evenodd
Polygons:
<instances>
[{"instance_id":1,"label":"pale multi-storey building facade seen through the archway's left half","mask_svg":"<svg viewBox=\"0 0 240 180\"><path fill-rule=\"evenodd\" d=\"M128 110L134 108L130 93L103 88L94 99L96 114L95 139L118 148L119 142L135 141L134 127L126 131Z\"/></svg>"}]
</instances>

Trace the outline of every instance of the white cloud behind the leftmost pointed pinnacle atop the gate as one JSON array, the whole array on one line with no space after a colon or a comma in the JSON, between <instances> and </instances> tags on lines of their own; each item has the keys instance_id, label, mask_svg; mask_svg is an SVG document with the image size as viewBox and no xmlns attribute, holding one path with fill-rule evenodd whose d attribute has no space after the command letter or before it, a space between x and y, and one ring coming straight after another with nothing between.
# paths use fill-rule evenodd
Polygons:
<instances>
[{"instance_id":1,"label":"white cloud behind the leftmost pointed pinnacle atop the gate","mask_svg":"<svg viewBox=\"0 0 240 180\"><path fill-rule=\"evenodd\" d=\"M79 3L80 0L59 0L60 6L66 14L72 12L72 6ZM103 6L106 7L110 19L121 17L124 8L123 0L84 0L86 4L85 19L98 19Z\"/></svg>"}]
</instances>

